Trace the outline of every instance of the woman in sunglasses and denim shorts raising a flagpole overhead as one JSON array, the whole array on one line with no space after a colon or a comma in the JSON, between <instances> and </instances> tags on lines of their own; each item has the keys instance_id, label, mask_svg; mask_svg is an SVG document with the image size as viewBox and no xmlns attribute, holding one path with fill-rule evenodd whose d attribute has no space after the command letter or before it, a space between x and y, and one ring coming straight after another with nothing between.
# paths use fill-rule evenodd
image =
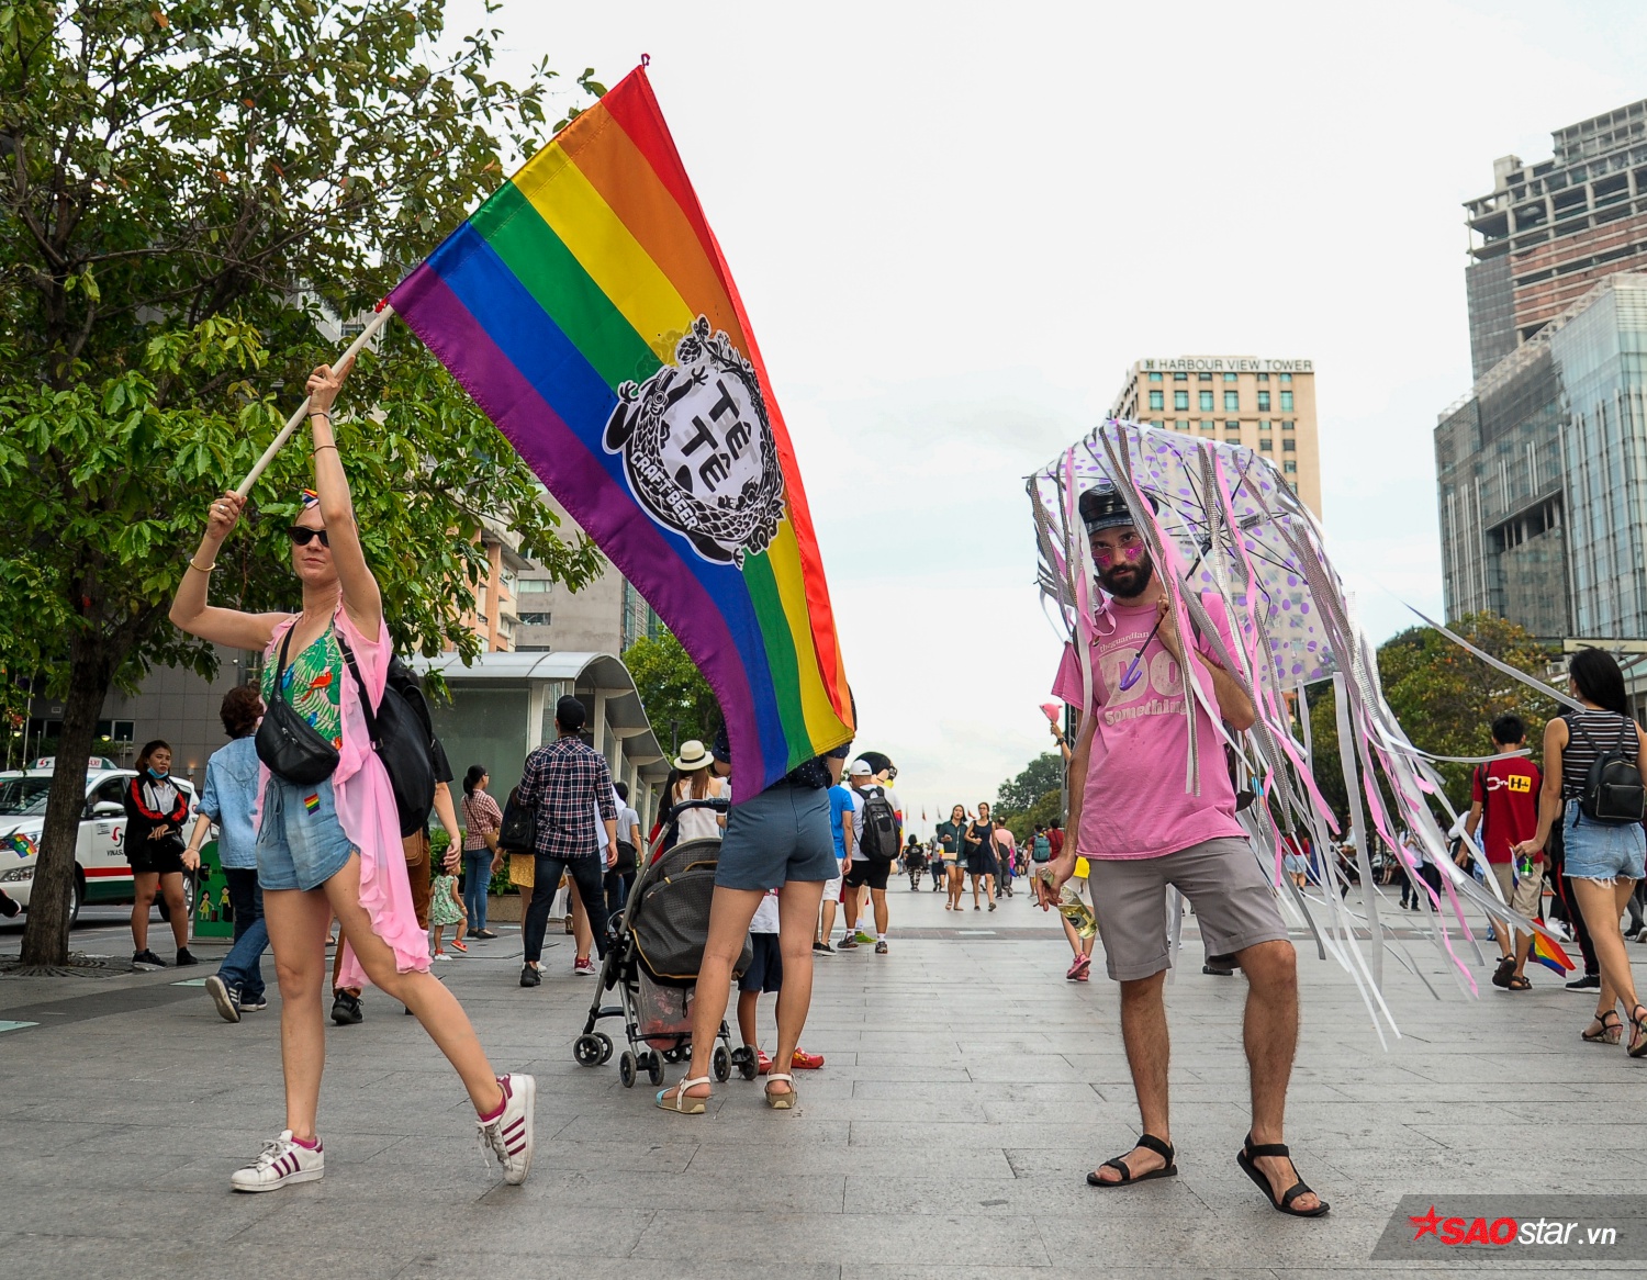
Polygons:
<instances>
[{"instance_id":1,"label":"woman in sunglasses and denim shorts raising a flagpole overhead","mask_svg":"<svg viewBox=\"0 0 1647 1280\"><path fill-rule=\"evenodd\" d=\"M361 550L349 481L331 430L331 405L352 359L320 366L308 381L315 493L288 530L300 613L242 613L208 605L217 552L245 498L212 502L206 535L188 562L171 621L191 636L264 651L264 730L285 730L285 750L259 733L257 875L280 977L280 1056L287 1122L231 1180L236 1191L273 1191L324 1176L316 1132L326 1035L326 927L346 939L343 982L371 979L407 1007L456 1067L483 1142L522 1183L532 1166L530 1076L496 1076L456 997L428 972L417 924L395 797L372 750L364 697L380 705L392 647L377 580ZM255 478L255 473L254 473ZM249 484L247 484L249 488ZM268 761L282 763L275 773Z\"/></svg>"}]
</instances>

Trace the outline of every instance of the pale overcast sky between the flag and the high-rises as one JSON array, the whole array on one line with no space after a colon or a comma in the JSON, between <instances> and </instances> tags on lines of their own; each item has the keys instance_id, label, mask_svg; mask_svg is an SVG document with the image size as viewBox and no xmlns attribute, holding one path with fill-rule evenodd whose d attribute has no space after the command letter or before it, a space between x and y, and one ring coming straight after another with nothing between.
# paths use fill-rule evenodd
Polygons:
<instances>
[{"instance_id":1,"label":"pale overcast sky between the flag and the high-rises","mask_svg":"<svg viewBox=\"0 0 1647 1280\"><path fill-rule=\"evenodd\" d=\"M1023 478L1140 356L1313 359L1364 624L1441 608L1459 206L1647 97L1639 0L481 10L450 8L504 28L506 72L652 56L800 458L858 743L922 832L1047 745Z\"/></svg>"}]
</instances>

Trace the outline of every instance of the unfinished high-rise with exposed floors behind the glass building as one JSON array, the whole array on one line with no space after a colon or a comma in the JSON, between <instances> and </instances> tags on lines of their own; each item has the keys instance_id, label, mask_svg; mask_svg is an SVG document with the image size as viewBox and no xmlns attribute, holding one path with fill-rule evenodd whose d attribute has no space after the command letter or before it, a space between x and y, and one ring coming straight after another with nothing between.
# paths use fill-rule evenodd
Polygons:
<instances>
[{"instance_id":1,"label":"unfinished high-rise with exposed floors behind the glass building","mask_svg":"<svg viewBox=\"0 0 1647 1280\"><path fill-rule=\"evenodd\" d=\"M1477 379L1596 280L1647 269L1647 100L1550 137L1550 160L1494 160L1492 191L1464 204Z\"/></svg>"}]
</instances>

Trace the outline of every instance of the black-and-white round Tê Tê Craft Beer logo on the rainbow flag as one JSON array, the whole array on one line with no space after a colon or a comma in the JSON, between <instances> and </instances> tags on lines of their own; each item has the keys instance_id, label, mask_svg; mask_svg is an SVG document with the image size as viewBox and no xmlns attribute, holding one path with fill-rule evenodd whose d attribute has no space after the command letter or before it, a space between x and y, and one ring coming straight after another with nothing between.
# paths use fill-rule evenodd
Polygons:
<instances>
[{"instance_id":1,"label":"black-and-white round T\u00ea T\u00ea Craft Beer logo on the rainbow flag","mask_svg":"<svg viewBox=\"0 0 1647 1280\"><path fill-rule=\"evenodd\" d=\"M608 453L646 512L713 563L743 565L777 535L784 471L754 366L698 316L675 362L618 387Z\"/></svg>"}]
</instances>

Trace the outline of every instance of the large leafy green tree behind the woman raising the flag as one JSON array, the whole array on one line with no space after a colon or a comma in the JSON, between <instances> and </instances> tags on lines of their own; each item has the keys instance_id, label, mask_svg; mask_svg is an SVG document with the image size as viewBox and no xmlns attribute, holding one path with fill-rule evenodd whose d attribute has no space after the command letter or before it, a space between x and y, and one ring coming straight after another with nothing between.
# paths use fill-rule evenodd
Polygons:
<instances>
[{"instance_id":1,"label":"large leafy green tree behind the woman raising the flag","mask_svg":"<svg viewBox=\"0 0 1647 1280\"><path fill-rule=\"evenodd\" d=\"M232 486L356 316L534 147L552 72L492 81L496 31L433 54L441 0L20 0L0 7L0 667L64 697L25 964L68 955L81 764L115 682L212 670L165 611ZM600 86L580 79L586 92ZM568 585L507 441L390 331L338 423L397 644L464 656L481 512ZM287 606L288 448L224 549L214 600Z\"/></svg>"}]
</instances>

